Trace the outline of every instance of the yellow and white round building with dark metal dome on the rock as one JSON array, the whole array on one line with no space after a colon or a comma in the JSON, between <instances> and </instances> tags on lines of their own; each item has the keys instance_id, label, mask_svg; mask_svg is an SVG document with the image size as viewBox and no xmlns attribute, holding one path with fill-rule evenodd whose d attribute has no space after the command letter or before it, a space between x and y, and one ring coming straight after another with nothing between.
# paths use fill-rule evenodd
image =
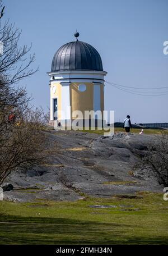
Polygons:
<instances>
[{"instance_id":1,"label":"yellow and white round building with dark metal dome on the rock","mask_svg":"<svg viewBox=\"0 0 168 256\"><path fill-rule=\"evenodd\" d=\"M100 54L77 39L54 54L50 76L50 124L74 120L74 111L104 111L104 76Z\"/></svg>"}]
</instances>

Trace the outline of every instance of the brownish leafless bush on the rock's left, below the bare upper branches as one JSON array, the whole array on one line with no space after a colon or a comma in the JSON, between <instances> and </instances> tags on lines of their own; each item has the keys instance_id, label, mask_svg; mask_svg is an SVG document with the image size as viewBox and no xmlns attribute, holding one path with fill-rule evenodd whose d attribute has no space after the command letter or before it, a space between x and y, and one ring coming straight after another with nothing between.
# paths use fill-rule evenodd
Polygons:
<instances>
[{"instance_id":1,"label":"brownish leafless bush on the rock's left, below the bare upper branches","mask_svg":"<svg viewBox=\"0 0 168 256\"><path fill-rule=\"evenodd\" d=\"M13 124L1 137L0 143L0 184L16 170L16 168L30 168L44 161L45 135L41 131L40 111L27 109L27 115Z\"/></svg>"}]
</instances>

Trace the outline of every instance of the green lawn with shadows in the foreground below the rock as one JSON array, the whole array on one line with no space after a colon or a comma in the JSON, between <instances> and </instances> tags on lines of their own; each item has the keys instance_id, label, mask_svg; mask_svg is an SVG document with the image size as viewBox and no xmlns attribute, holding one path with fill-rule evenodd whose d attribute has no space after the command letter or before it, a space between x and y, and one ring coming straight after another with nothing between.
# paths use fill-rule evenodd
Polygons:
<instances>
[{"instance_id":1,"label":"green lawn with shadows in the foreground below the rock","mask_svg":"<svg viewBox=\"0 0 168 256\"><path fill-rule=\"evenodd\" d=\"M77 202L0 202L0 244L168 244L167 227L168 201L157 193Z\"/></svg>"}]
</instances>

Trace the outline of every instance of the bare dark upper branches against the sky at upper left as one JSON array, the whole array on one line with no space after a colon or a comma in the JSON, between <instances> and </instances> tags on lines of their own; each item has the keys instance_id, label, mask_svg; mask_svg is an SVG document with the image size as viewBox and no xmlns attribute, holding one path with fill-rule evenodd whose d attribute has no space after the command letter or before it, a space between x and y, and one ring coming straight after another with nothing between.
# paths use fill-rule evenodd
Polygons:
<instances>
[{"instance_id":1,"label":"bare dark upper branches against the sky at upper left","mask_svg":"<svg viewBox=\"0 0 168 256\"><path fill-rule=\"evenodd\" d=\"M2 6L2 1L0 6ZM3 44L3 52L0 54L0 74L3 73L6 84L13 85L25 77L33 75L38 68L36 70L31 68L32 62L35 61L35 54L27 58L27 53L31 51L31 45L30 47L18 46L21 30L15 29L9 20L3 22L3 19L0 19L0 21L0 42Z\"/></svg>"}]
</instances>

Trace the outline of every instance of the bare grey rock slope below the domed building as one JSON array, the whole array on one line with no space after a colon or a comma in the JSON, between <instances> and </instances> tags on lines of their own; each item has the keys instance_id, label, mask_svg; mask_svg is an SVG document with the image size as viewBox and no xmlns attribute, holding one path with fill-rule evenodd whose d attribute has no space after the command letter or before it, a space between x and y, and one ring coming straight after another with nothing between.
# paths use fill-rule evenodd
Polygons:
<instances>
[{"instance_id":1,"label":"bare grey rock slope below the domed building","mask_svg":"<svg viewBox=\"0 0 168 256\"><path fill-rule=\"evenodd\" d=\"M77 200L85 196L135 196L137 191L162 191L155 174L133 170L137 152L147 150L155 136L118 133L112 137L88 132L44 131L53 156L32 170L7 177L14 186L4 198L18 202L36 199Z\"/></svg>"}]
</instances>

